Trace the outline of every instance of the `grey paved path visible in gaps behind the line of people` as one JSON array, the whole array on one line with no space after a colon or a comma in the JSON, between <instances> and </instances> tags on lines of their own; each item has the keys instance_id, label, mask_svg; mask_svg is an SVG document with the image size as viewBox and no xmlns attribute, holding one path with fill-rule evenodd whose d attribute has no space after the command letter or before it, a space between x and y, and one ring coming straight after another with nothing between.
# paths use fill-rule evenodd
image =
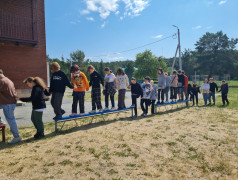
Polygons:
<instances>
[{"instance_id":1,"label":"grey paved path visible in gaps behind the line of people","mask_svg":"<svg viewBox=\"0 0 238 180\"><path fill-rule=\"evenodd\" d=\"M117 94L116 94L117 96ZM131 106L131 93L130 91L126 92L126 96L127 98L125 99L125 104L126 107L130 107ZM199 98L202 98L201 95L199 95ZM102 99L104 99L104 96L102 96ZM72 108L72 101L73 99L71 98L67 98L64 97L63 99L63 104L62 104L62 108L66 111L65 116L68 116L71 113L71 108ZM111 103L109 103L110 105ZM139 106L139 99L137 102L137 106ZM53 117L55 116L53 108L50 105L50 101L46 102L46 106L47 106L47 110L43 113L43 121L44 122L53 122ZM102 106L105 107L105 103L102 102ZM116 102L116 106L117 106L117 102ZM92 105L91 102L85 102L85 112L89 112L92 110ZM31 103L26 103L23 106L17 106L15 109L15 117L16 117L16 121L17 121L17 125L18 126L29 126L32 125L31 122L31 111L32 111L32 105ZM0 110L0 117L2 117L5 121L5 117L3 115L2 110ZM8 124L7 124L8 127Z\"/></svg>"}]
</instances>

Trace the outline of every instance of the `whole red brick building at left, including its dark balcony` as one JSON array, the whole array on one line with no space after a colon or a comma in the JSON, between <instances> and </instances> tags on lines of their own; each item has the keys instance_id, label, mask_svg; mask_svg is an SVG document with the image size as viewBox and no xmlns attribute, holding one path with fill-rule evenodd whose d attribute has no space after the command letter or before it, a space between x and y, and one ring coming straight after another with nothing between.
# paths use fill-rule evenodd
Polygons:
<instances>
[{"instance_id":1,"label":"whole red brick building at left, including its dark balcony","mask_svg":"<svg viewBox=\"0 0 238 180\"><path fill-rule=\"evenodd\" d=\"M44 0L0 0L0 69L18 94L28 76L47 82Z\"/></svg>"}]
</instances>

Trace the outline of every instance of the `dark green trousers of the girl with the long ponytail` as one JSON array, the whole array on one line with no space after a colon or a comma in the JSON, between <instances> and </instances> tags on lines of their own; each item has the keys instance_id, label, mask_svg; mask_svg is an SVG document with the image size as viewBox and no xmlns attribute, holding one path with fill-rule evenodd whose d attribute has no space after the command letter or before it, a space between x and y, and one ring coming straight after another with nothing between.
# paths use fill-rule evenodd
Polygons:
<instances>
[{"instance_id":1,"label":"dark green trousers of the girl with the long ponytail","mask_svg":"<svg viewBox=\"0 0 238 180\"><path fill-rule=\"evenodd\" d=\"M31 121L37 130L37 134L44 134L44 125L42 121L42 115L43 115L43 112L38 112L38 111L35 111L34 109L32 110Z\"/></svg>"}]
</instances>

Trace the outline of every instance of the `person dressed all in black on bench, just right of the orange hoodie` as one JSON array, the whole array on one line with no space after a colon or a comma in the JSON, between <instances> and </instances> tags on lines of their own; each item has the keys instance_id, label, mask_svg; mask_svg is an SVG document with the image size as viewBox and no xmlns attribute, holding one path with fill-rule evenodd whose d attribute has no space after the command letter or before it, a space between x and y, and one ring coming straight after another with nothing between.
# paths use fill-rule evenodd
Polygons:
<instances>
[{"instance_id":1,"label":"person dressed all in black on bench, just right of the orange hoodie","mask_svg":"<svg viewBox=\"0 0 238 180\"><path fill-rule=\"evenodd\" d=\"M88 66L87 72L90 73L90 82L89 86L92 86L91 98L92 98L92 111L90 114L96 113L96 108L99 112L103 112L102 103L101 103L101 87L103 86L102 76L95 70L92 65Z\"/></svg>"}]
</instances>

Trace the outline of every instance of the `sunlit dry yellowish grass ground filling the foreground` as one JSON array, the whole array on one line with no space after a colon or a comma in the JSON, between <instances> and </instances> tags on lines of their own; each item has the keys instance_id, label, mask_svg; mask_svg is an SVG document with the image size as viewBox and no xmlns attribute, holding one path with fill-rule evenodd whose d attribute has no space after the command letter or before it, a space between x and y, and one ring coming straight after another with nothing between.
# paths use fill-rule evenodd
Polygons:
<instances>
[{"instance_id":1,"label":"sunlit dry yellowish grass ground filling the foreground","mask_svg":"<svg viewBox=\"0 0 238 180\"><path fill-rule=\"evenodd\" d=\"M0 179L238 179L238 110L170 108L69 122L57 135L49 123L38 141L22 127L22 143L0 143Z\"/></svg>"}]
</instances>

